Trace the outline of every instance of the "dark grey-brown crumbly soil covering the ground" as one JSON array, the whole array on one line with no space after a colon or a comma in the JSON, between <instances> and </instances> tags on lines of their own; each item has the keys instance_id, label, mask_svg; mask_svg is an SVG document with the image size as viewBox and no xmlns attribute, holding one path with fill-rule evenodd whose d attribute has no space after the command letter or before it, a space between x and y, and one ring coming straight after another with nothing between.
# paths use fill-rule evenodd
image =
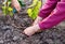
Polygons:
<instances>
[{"instance_id":1,"label":"dark grey-brown crumbly soil covering the ground","mask_svg":"<svg viewBox=\"0 0 65 44\"><path fill-rule=\"evenodd\" d=\"M23 34L32 19L26 13L3 16L0 10L0 44L65 44L65 21L32 36Z\"/></svg>"}]
</instances>

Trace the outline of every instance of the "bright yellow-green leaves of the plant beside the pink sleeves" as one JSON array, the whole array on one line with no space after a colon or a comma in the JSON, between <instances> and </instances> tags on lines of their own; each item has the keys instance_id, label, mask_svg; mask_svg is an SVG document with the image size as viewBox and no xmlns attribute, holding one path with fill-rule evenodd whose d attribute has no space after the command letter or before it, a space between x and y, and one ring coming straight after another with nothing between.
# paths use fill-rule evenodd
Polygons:
<instances>
[{"instance_id":1,"label":"bright yellow-green leaves of the plant beside the pink sleeves","mask_svg":"<svg viewBox=\"0 0 65 44\"><path fill-rule=\"evenodd\" d=\"M27 10L28 16L31 17L32 19L36 19L36 17L38 16L39 9L41 6L41 1L38 1L36 4L37 5L31 4L31 6L34 5L34 8Z\"/></svg>"}]
</instances>

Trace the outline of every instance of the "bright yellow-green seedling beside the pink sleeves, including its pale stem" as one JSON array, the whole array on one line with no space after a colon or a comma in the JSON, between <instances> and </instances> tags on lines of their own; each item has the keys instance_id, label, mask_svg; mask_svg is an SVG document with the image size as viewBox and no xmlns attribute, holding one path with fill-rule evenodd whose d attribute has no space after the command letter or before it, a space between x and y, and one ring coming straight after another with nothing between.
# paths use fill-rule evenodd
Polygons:
<instances>
[{"instance_id":1,"label":"bright yellow-green seedling beside the pink sleeves, including its pale stem","mask_svg":"<svg viewBox=\"0 0 65 44\"><path fill-rule=\"evenodd\" d=\"M41 0L34 0L32 4L29 5L27 13L30 18L36 19L39 13L39 9L41 8Z\"/></svg>"}]
</instances>

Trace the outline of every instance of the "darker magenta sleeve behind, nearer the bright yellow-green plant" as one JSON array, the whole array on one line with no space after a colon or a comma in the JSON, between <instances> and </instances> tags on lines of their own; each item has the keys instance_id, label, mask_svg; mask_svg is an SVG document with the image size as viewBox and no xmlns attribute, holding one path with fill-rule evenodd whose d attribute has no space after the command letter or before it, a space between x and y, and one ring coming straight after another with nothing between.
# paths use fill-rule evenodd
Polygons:
<instances>
[{"instance_id":1,"label":"darker magenta sleeve behind, nearer the bright yellow-green plant","mask_svg":"<svg viewBox=\"0 0 65 44\"><path fill-rule=\"evenodd\" d=\"M47 0L46 4L40 9L39 16L46 18L55 8L60 0Z\"/></svg>"}]
</instances>

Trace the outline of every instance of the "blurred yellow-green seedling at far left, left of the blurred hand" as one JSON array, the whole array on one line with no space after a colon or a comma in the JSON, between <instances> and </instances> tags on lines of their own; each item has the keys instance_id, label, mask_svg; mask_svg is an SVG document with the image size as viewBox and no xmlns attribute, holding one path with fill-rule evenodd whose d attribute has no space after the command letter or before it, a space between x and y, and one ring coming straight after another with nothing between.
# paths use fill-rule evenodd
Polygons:
<instances>
[{"instance_id":1,"label":"blurred yellow-green seedling at far left, left of the blurred hand","mask_svg":"<svg viewBox=\"0 0 65 44\"><path fill-rule=\"evenodd\" d=\"M13 9L11 6L11 0L4 0L3 6L2 6L2 12L4 15L13 16Z\"/></svg>"}]
</instances>

